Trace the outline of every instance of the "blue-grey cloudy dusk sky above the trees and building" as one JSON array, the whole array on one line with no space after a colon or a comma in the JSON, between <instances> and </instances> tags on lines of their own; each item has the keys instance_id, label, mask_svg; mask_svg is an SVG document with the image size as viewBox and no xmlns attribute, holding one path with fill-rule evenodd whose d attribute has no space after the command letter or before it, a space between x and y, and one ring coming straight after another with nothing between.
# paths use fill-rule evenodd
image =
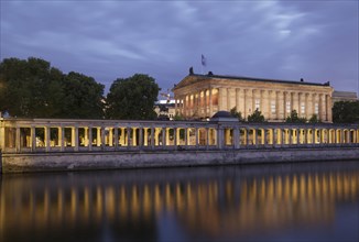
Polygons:
<instances>
[{"instance_id":1,"label":"blue-grey cloudy dusk sky above the trees and building","mask_svg":"<svg viewBox=\"0 0 359 242\"><path fill-rule=\"evenodd\" d=\"M40 57L106 90L135 73L166 90L191 66L359 89L358 0L0 2L1 61Z\"/></svg>"}]
</instances>

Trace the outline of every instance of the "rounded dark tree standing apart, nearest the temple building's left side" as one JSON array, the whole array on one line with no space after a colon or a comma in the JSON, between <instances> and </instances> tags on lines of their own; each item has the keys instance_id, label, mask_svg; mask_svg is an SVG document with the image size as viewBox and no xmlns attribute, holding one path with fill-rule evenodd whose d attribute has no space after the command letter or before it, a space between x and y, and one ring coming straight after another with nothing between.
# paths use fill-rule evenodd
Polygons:
<instances>
[{"instance_id":1,"label":"rounded dark tree standing apart, nearest the temple building's left side","mask_svg":"<svg viewBox=\"0 0 359 242\"><path fill-rule=\"evenodd\" d=\"M153 110L160 87L154 78L135 74L129 78L116 79L107 95L106 117L108 119L153 120Z\"/></svg>"}]
</instances>

